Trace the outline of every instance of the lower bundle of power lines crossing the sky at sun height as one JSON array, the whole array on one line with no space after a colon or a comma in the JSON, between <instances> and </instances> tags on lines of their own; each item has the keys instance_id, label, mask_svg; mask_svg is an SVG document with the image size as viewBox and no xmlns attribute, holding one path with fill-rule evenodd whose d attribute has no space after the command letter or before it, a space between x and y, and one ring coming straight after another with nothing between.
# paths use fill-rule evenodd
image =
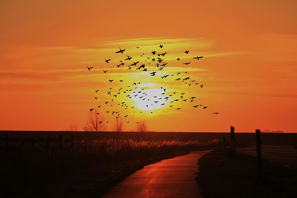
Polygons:
<instances>
[{"instance_id":1,"label":"lower bundle of power lines crossing the sky at sun height","mask_svg":"<svg viewBox=\"0 0 297 198\"><path fill-rule=\"evenodd\" d=\"M49 81L59 81L59 82L69 82L69 83L83 83L83 84L94 84L94 85L127 85L125 83L105 83L101 81L91 81L91 80L79 80L79 79L70 79L70 78L58 78L58 77L48 77L48 76L37 76L37 75L26 75L26 74L16 74L16 73L7 73L0 72L1 76L8 77L19 77L19 78L29 78L36 80L49 80ZM208 89L193 89L193 88L176 88L168 87L173 90L184 90L191 92L204 92L204 93L213 93L213 94L233 94L233 95L249 95L249 96L271 96L271 97L290 97L297 98L297 94L271 94L271 93L257 93L257 92L240 92L240 91L220 91L220 90L208 90Z\"/></svg>"}]
</instances>

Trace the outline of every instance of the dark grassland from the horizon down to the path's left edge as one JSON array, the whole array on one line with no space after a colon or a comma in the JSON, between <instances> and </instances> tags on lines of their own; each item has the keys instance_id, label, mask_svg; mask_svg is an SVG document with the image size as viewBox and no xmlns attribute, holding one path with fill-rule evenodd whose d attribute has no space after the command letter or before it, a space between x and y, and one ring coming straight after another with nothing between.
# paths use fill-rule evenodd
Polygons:
<instances>
[{"instance_id":1,"label":"dark grassland from the horizon down to the path's left edge","mask_svg":"<svg viewBox=\"0 0 297 198\"><path fill-rule=\"evenodd\" d=\"M186 154L218 149L230 133L0 131L0 137L75 137L63 143L9 143L0 148L0 190L5 197L98 197L145 165ZM254 145L255 133L235 133L238 146ZM264 133L263 144L295 145L296 133ZM228 144L227 144L228 145ZM221 145L222 147L222 145ZM210 163L210 162L209 162Z\"/></svg>"}]
</instances>

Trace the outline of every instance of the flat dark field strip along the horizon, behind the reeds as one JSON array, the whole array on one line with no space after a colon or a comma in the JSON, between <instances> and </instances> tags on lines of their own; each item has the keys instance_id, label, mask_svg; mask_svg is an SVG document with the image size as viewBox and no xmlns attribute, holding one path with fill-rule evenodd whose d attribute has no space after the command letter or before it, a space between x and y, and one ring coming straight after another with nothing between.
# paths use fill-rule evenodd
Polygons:
<instances>
[{"instance_id":1,"label":"flat dark field strip along the horizon, behind the reeds","mask_svg":"<svg viewBox=\"0 0 297 198\"><path fill-rule=\"evenodd\" d=\"M70 138L74 135L75 140L97 140L105 137L113 139L142 139L142 140L193 140L206 143L214 139L222 139L226 135L227 142L230 141L230 132L64 132L64 131L0 131L0 137L47 137L52 138L63 135ZM238 144L254 145L256 142L255 132L236 133ZM263 145L295 145L297 143L297 133L262 133Z\"/></svg>"}]
</instances>

